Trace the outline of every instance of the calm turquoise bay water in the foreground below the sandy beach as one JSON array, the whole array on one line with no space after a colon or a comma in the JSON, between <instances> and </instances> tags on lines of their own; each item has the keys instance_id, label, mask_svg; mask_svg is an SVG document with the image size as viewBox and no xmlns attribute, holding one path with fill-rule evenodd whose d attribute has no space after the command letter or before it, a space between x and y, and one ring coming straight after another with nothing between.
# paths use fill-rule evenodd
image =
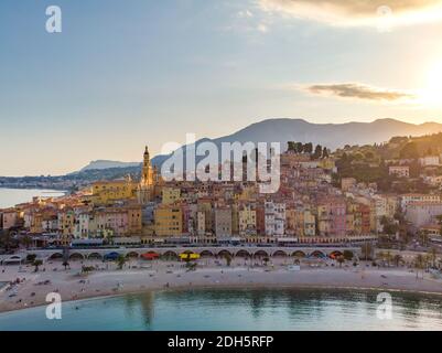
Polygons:
<instances>
[{"instance_id":1,"label":"calm turquoise bay water in the foreground below the sandy beach","mask_svg":"<svg viewBox=\"0 0 442 353\"><path fill-rule=\"evenodd\" d=\"M376 315L377 292L348 290L159 291L0 314L1 330L442 330L439 296L392 292L392 319Z\"/></svg>"}]
</instances>

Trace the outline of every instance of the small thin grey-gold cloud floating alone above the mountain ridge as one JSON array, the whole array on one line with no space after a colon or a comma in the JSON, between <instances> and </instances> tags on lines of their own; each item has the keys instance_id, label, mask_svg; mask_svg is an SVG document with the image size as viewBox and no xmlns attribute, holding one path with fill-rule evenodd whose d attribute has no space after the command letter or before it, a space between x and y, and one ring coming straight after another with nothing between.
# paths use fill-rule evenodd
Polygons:
<instances>
[{"instance_id":1,"label":"small thin grey-gold cloud floating alone above the mountain ridge","mask_svg":"<svg viewBox=\"0 0 442 353\"><path fill-rule=\"evenodd\" d=\"M399 90L388 90L362 84L317 84L303 87L304 90L316 94L341 98L365 99L376 101L396 101L412 99L412 94Z\"/></svg>"}]
</instances>

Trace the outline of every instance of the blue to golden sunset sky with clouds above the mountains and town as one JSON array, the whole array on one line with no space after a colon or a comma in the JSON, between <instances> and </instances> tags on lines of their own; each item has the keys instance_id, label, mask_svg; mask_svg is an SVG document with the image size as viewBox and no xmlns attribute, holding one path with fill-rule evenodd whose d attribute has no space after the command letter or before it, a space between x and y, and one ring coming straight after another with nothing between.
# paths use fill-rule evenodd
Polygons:
<instances>
[{"instance_id":1,"label":"blue to golden sunset sky with clouds above the mountains and town","mask_svg":"<svg viewBox=\"0 0 442 353\"><path fill-rule=\"evenodd\" d=\"M0 175L273 117L442 122L441 34L441 0L1 0Z\"/></svg>"}]
</instances>

